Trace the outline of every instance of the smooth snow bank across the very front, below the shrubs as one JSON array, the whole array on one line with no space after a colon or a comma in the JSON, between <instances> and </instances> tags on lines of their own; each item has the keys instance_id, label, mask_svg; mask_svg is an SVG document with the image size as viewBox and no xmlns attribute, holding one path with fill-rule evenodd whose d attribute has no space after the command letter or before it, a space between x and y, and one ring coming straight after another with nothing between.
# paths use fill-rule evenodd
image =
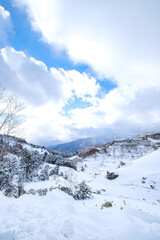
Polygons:
<instances>
[{"instance_id":1,"label":"smooth snow bank across the very front, below the shrubs","mask_svg":"<svg viewBox=\"0 0 160 240\"><path fill-rule=\"evenodd\" d=\"M101 209L99 199L75 201L55 190L45 197L0 195L0 240L159 240L159 218L126 207Z\"/></svg>"}]
</instances>

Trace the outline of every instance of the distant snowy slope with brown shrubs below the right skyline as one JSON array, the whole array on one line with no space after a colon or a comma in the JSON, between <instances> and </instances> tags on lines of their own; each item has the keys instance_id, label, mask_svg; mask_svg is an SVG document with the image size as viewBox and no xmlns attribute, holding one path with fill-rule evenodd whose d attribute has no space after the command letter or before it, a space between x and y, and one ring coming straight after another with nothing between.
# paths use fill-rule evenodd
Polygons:
<instances>
[{"instance_id":1,"label":"distant snowy slope with brown shrubs below the right skyline","mask_svg":"<svg viewBox=\"0 0 160 240\"><path fill-rule=\"evenodd\" d=\"M77 151L81 157L104 154L107 158L136 159L160 148L160 133L139 135L133 138L116 140L103 145L89 146Z\"/></svg>"}]
</instances>

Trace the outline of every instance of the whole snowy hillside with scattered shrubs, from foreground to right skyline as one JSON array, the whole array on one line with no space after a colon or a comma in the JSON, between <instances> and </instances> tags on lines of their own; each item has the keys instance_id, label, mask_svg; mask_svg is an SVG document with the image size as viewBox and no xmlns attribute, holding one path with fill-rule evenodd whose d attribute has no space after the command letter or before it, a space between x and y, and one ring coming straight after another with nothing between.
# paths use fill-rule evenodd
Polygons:
<instances>
[{"instance_id":1,"label":"whole snowy hillside with scattered shrubs, from foreground to right skyline","mask_svg":"<svg viewBox=\"0 0 160 240\"><path fill-rule=\"evenodd\" d=\"M36 149L22 145L32 154ZM34 178L23 178L22 196L6 197L6 188L0 192L0 240L159 240L159 147L160 134L152 134L92 146L73 156L58 153L57 162L42 159L43 170L46 165L54 169L46 179L39 179L38 165Z\"/></svg>"}]
</instances>

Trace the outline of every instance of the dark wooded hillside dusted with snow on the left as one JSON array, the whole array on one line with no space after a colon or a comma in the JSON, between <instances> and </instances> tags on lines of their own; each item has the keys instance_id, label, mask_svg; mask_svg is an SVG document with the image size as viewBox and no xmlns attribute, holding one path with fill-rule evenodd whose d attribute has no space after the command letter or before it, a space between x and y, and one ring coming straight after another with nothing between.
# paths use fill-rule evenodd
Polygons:
<instances>
[{"instance_id":1,"label":"dark wooded hillside dusted with snow on the left","mask_svg":"<svg viewBox=\"0 0 160 240\"><path fill-rule=\"evenodd\" d=\"M2 151L3 150L3 151ZM27 143L21 138L0 135L0 191L6 196L19 196L24 182L49 180L59 166L73 168L76 164L67 152L51 151Z\"/></svg>"}]
</instances>

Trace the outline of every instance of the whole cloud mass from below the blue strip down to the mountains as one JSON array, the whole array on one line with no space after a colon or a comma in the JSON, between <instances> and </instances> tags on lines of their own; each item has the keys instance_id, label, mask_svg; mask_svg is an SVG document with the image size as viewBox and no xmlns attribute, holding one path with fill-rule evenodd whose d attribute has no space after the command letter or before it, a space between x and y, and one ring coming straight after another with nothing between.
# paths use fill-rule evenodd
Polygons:
<instances>
[{"instance_id":1,"label":"whole cloud mass from below the blue strip down to the mountains","mask_svg":"<svg viewBox=\"0 0 160 240\"><path fill-rule=\"evenodd\" d=\"M160 87L119 86L103 93L96 79L76 70L47 69L43 62L6 47L0 50L1 83L26 102L23 128L31 142L50 145L80 137L160 129ZM80 108L70 100L89 103Z\"/></svg>"}]
</instances>

